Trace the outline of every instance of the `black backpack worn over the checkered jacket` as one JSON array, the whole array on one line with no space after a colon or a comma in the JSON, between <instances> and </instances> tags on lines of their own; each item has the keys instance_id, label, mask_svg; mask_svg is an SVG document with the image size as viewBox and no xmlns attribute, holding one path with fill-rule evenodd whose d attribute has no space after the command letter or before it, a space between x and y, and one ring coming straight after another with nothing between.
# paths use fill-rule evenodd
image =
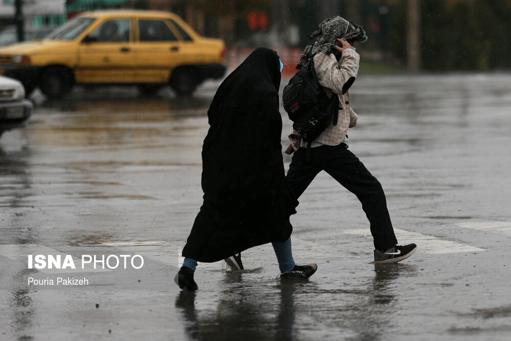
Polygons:
<instances>
[{"instance_id":1,"label":"black backpack worn over the checkered jacket","mask_svg":"<svg viewBox=\"0 0 511 341\"><path fill-rule=\"evenodd\" d=\"M333 94L328 98L317 80L312 58L284 87L282 103L293 121L293 129L300 133L308 148L330 122L337 124L339 97Z\"/></svg>"}]
</instances>

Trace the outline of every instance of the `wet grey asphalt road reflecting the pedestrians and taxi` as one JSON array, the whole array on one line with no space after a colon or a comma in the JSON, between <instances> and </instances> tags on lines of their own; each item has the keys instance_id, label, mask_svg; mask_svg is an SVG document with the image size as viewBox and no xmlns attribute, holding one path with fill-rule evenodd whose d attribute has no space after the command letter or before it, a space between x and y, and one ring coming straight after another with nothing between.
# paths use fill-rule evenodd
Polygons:
<instances>
[{"instance_id":1,"label":"wet grey asphalt road reflecting the pedestrians and taxi","mask_svg":"<svg viewBox=\"0 0 511 341\"><path fill-rule=\"evenodd\" d=\"M199 290L180 292L216 85L189 100L33 96L28 127L0 140L0 339L511 337L511 76L360 75L352 87L350 149L382 183L399 242L419 245L408 260L371 264L360 203L320 174L292 217L295 261L318 264L309 281L276 279L263 245L243 254L244 271L200 264ZM77 267L82 255L141 255L144 266L29 269L38 254ZM59 277L88 285L28 284Z\"/></svg>"}]
</instances>

